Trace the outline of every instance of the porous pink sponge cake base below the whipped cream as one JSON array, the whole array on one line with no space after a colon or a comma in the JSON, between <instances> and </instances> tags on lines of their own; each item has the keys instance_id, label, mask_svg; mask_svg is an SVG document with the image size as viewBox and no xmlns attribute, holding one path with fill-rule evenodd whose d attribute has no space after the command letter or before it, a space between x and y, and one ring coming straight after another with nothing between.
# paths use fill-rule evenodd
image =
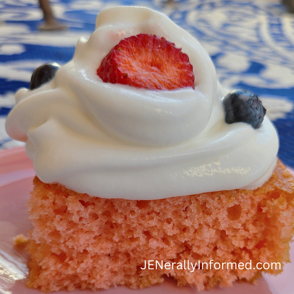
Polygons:
<instances>
[{"instance_id":1,"label":"porous pink sponge cake base below the whipped cream","mask_svg":"<svg viewBox=\"0 0 294 294\"><path fill-rule=\"evenodd\" d=\"M178 286L202 290L254 282L261 275L258 262L289 262L294 182L278 162L270 180L255 190L133 201L90 197L36 177L28 210L34 225L27 246L30 288L143 288L168 275ZM163 265L189 260L197 267L193 273L175 266L142 270L145 260ZM210 270L198 268L198 260L237 265L251 260L252 267Z\"/></svg>"}]
</instances>

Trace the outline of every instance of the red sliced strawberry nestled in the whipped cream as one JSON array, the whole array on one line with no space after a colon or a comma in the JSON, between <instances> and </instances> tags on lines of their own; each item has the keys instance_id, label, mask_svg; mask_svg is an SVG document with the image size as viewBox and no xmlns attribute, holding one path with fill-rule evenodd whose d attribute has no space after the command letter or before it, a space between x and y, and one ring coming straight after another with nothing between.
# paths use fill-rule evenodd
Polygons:
<instances>
[{"instance_id":1,"label":"red sliced strawberry nestled in the whipped cream","mask_svg":"<svg viewBox=\"0 0 294 294\"><path fill-rule=\"evenodd\" d=\"M151 90L194 88L193 66L181 48L155 35L139 34L121 40L102 60L98 76Z\"/></svg>"}]
</instances>

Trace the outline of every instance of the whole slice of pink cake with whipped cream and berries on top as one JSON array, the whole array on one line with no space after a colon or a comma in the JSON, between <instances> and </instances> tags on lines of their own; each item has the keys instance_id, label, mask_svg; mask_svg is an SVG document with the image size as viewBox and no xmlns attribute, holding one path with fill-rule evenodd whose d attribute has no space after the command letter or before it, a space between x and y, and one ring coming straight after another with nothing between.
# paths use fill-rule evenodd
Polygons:
<instances>
[{"instance_id":1,"label":"whole slice of pink cake with whipped cream and berries on top","mask_svg":"<svg viewBox=\"0 0 294 294\"><path fill-rule=\"evenodd\" d=\"M146 8L102 11L61 68L16 93L26 142L27 285L43 292L197 290L277 274L294 234L294 181L253 93L225 92L198 43Z\"/></svg>"}]
</instances>

